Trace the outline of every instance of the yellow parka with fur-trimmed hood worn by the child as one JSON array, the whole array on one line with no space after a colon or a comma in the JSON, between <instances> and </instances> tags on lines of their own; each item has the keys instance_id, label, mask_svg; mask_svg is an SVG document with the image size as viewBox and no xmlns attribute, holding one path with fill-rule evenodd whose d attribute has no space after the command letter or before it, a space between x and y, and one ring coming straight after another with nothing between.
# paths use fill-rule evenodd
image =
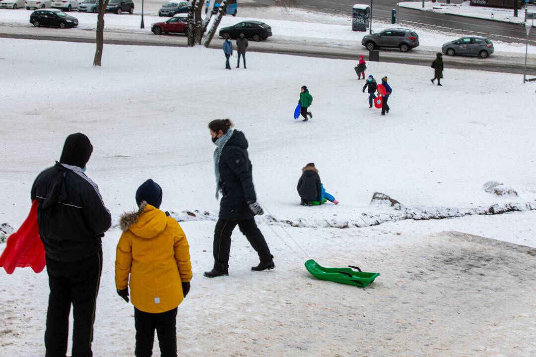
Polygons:
<instances>
[{"instance_id":1,"label":"yellow parka with fur-trimmed hood worn by the child","mask_svg":"<svg viewBox=\"0 0 536 357\"><path fill-rule=\"evenodd\" d=\"M145 201L121 217L115 284L129 283L132 305L146 313L163 313L184 299L181 282L192 278L190 247L181 226Z\"/></svg>"}]
</instances>

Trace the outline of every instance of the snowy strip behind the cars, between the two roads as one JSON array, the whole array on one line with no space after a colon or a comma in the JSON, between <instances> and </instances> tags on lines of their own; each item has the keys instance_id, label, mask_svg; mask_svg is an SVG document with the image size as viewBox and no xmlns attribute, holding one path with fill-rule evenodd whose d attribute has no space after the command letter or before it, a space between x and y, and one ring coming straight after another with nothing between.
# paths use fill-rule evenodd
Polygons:
<instances>
[{"instance_id":1,"label":"snowy strip behind the cars, between the two roads","mask_svg":"<svg viewBox=\"0 0 536 357\"><path fill-rule=\"evenodd\" d=\"M27 10L0 10L0 27L2 26L24 26L32 28L29 24L29 14ZM63 33L66 36L76 35L79 33L90 34L96 27L96 14L93 13L72 13L79 20L78 28L74 29L57 29L56 33ZM266 16L266 17L263 17ZM106 31L123 32L131 34L150 34L151 24L167 20L158 16L145 16L145 29L140 29L140 16L129 14L107 13L105 16ZM279 7L268 7L259 10L256 8L244 7L237 17L226 16L222 18L219 28L232 26L243 20L257 20L266 22L272 27L273 40L332 40L340 42L352 41L358 48L361 47L361 40L367 32L352 31L352 23L349 16L335 16L333 14L305 11L300 9L285 10ZM383 31L398 25L391 25L384 21L378 20L373 24L375 32ZM39 35L43 32L42 28L32 29L32 33ZM459 34L440 31L437 29L417 30L421 49L438 51L445 42L455 40L460 37ZM154 35L155 37L158 37ZM525 53L524 43L503 43L494 41L496 52L512 52L516 54ZM536 47L529 47L531 54L536 54Z\"/></svg>"}]
</instances>

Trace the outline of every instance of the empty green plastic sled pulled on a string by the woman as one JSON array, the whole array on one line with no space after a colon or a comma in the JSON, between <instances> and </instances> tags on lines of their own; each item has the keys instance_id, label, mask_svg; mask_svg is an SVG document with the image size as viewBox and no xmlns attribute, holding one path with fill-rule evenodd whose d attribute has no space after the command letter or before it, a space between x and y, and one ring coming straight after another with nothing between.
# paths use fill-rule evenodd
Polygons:
<instances>
[{"instance_id":1,"label":"empty green plastic sled pulled on a string by the woman","mask_svg":"<svg viewBox=\"0 0 536 357\"><path fill-rule=\"evenodd\" d=\"M352 265L348 265L349 268L324 268L312 259L305 262L305 267L318 279L361 287L374 282L374 279L379 276L379 273L361 271L361 269ZM352 268L358 269L359 271L355 271Z\"/></svg>"}]
</instances>

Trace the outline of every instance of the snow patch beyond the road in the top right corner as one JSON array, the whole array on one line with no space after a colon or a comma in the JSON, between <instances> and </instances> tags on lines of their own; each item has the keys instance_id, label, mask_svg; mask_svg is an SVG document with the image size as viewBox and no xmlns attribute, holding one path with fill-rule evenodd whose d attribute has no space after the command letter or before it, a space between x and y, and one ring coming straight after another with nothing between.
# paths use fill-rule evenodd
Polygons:
<instances>
[{"instance_id":1,"label":"snow patch beyond the road in the top right corner","mask_svg":"<svg viewBox=\"0 0 536 357\"><path fill-rule=\"evenodd\" d=\"M513 16L513 9L502 9L500 7L486 6L471 6L469 1L464 1L461 4L446 4L446 2L431 2L425 1L425 7L422 7L422 2L411 1L398 3L400 7L407 9L432 11L464 17L472 17L477 19L487 19L503 22L511 22L512 24L523 24L525 22L525 9L518 11L518 17ZM529 6L528 12L536 12L536 7Z\"/></svg>"}]
</instances>

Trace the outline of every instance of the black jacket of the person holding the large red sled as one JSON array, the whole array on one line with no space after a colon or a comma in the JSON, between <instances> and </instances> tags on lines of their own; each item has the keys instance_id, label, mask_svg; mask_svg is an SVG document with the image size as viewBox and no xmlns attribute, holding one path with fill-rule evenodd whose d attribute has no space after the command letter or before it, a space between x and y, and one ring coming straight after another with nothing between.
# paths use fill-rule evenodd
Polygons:
<instances>
[{"instance_id":1,"label":"black jacket of the person holding the large red sled","mask_svg":"<svg viewBox=\"0 0 536 357\"><path fill-rule=\"evenodd\" d=\"M77 262L101 250L111 225L98 186L77 166L56 163L35 179L39 235L48 257Z\"/></svg>"}]
</instances>

